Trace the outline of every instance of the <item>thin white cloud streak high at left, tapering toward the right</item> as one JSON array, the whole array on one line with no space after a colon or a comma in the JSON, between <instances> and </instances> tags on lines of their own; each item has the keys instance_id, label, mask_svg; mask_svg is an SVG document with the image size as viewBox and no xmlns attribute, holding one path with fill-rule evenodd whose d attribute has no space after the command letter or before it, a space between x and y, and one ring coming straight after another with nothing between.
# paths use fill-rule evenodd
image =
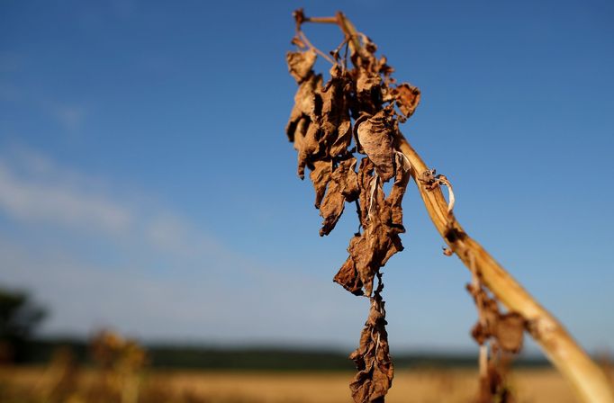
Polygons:
<instances>
[{"instance_id":1,"label":"thin white cloud streak high at left, tapering toward the right","mask_svg":"<svg viewBox=\"0 0 614 403\"><path fill-rule=\"evenodd\" d=\"M180 214L156 206L151 197L133 191L121 194L116 188L122 185L59 166L29 148L6 149L8 157L0 154L0 215L77 229L82 235L193 261L231 255L215 237L193 228Z\"/></svg>"}]
</instances>

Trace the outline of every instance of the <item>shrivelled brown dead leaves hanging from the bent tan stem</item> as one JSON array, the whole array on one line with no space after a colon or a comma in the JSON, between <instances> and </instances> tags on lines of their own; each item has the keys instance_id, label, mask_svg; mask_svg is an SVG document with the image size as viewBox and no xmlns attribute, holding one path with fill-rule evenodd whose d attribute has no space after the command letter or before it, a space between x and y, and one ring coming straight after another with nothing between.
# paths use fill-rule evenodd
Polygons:
<instances>
[{"instance_id":1,"label":"shrivelled brown dead leaves hanging from the bent tan stem","mask_svg":"<svg viewBox=\"0 0 614 403\"><path fill-rule=\"evenodd\" d=\"M376 56L375 43L364 34L349 31L343 14L309 19L297 10L294 18L292 43L297 49L287 53L286 61L298 90L285 131L297 152L298 175L303 179L306 169L310 172L315 207L322 218L320 235L335 228L346 203L356 203L360 229L349 241L348 259L334 282L371 300L360 345L350 356L358 370L350 384L352 396L356 402L384 401L393 381L393 363L385 330L381 269L403 249L402 199L411 166L398 147L402 137L399 124L407 121L420 103L420 90L407 83L397 84L393 67L384 56ZM346 34L345 40L327 55L303 33L304 22L337 23ZM319 55L332 65L326 82L314 71ZM445 176L435 176L434 170L426 174L420 180L430 180L430 190L440 184L450 188ZM384 184L391 180L386 194ZM452 217L453 193L450 196L448 214ZM378 285L374 291L375 278ZM488 298L481 285L470 291L485 318L474 328L478 343L492 339L492 352L516 353L523 329L519 316L501 315L496 300ZM495 385L491 389L499 395L503 372L494 364L500 361L491 360L493 375L488 378Z\"/></svg>"}]
</instances>

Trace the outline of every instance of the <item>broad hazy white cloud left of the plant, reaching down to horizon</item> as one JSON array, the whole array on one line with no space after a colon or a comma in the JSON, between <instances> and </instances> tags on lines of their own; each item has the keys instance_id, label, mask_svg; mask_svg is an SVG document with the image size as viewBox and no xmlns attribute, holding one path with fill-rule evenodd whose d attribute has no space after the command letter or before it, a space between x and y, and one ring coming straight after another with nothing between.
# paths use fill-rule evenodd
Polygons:
<instances>
[{"instance_id":1,"label":"broad hazy white cloud left of the plant, reaching down to horizon","mask_svg":"<svg viewBox=\"0 0 614 403\"><path fill-rule=\"evenodd\" d=\"M364 311L338 285L257 264L176 211L139 210L117 192L105 196L97 182L32 151L0 157L0 214L34 227L25 237L0 228L0 282L50 307L47 333L86 336L113 326L149 339L220 343L355 338ZM42 223L68 231L61 239L27 235ZM102 255L113 259L80 249L84 235L102 237Z\"/></svg>"}]
</instances>

